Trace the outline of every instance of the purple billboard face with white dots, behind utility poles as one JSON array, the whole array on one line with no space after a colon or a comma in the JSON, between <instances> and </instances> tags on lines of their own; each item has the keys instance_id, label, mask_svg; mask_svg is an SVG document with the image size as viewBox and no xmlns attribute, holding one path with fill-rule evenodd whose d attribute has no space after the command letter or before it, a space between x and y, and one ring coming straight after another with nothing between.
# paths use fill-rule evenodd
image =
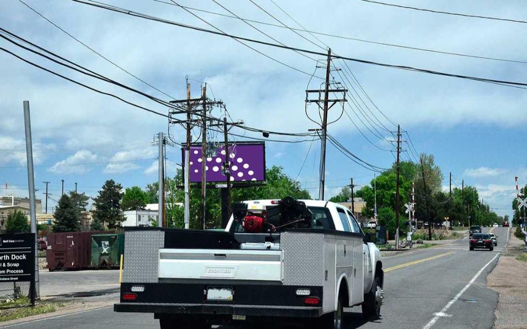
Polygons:
<instances>
[{"instance_id":1,"label":"purple billboard face with white dots, behind utility poles","mask_svg":"<svg viewBox=\"0 0 527 329\"><path fill-rule=\"evenodd\" d=\"M185 152L182 153L184 165ZM190 146L190 183L201 183L201 154L201 145ZM227 156L230 157L231 182L263 182L266 180L265 144L245 142L229 145L228 153L225 152L225 146L218 145L216 154L213 157L206 157L205 177L207 183L226 182L226 176L222 169Z\"/></svg>"}]
</instances>

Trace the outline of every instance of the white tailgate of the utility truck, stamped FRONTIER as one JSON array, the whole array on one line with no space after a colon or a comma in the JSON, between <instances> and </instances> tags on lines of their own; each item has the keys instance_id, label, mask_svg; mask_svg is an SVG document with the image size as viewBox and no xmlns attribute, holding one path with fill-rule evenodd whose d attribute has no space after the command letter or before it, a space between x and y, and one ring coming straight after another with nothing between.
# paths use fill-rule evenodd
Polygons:
<instances>
[{"instance_id":1,"label":"white tailgate of the utility truck, stamped FRONTIER","mask_svg":"<svg viewBox=\"0 0 527 329\"><path fill-rule=\"evenodd\" d=\"M159 278L278 281L281 250L160 249Z\"/></svg>"}]
</instances>

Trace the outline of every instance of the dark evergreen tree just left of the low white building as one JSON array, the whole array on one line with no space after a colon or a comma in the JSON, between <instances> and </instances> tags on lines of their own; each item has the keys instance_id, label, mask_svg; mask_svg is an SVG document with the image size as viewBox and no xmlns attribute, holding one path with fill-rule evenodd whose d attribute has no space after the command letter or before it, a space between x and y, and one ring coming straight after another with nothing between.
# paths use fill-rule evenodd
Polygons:
<instances>
[{"instance_id":1,"label":"dark evergreen tree just left of the low white building","mask_svg":"<svg viewBox=\"0 0 527 329\"><path fill-rule=\"evenodd\" d=\"M106 224L109 228L121 226L124 221L124 216L121 212L121 199L123 193L121 184L116 184L113 180L108 180L104 183L99 195L94 198L94 217Z\"/></svg>"}]
</instances>

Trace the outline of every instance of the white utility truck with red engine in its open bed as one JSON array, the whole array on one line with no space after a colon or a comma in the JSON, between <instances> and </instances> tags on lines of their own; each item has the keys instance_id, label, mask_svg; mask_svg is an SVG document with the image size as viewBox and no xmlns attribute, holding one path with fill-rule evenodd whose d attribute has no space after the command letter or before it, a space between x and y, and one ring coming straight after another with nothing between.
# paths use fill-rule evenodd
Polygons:
<instances>
[{"instance_id":1,"label":"white utility truck with red engine in its open bed","mask_svg":"<svg viewBox=\"0 0 527 329\"><path fill-rule=\"evenodd\" d=\"M116 312L161 329L296 323L342 328L344 307L378 318L384 272L352 212L313 200L233 204L223 232L125 229Z\"/></svg>"}]
</instances>

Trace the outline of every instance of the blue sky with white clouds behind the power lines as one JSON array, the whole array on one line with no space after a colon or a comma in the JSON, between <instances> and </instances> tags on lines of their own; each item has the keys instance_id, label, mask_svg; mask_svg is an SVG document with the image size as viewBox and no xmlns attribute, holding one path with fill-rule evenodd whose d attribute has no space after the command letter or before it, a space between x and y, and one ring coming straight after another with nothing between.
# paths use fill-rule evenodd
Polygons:
<instances>
[{"instance_id":1,"label":"blue sky with white clouds behind the power lines","mask_svg":"<svg viewBox=\"0 0 527 329\"><path fill-rule=\"evenodd\" d=\"M236 41L142 21L73 2L26 2L113 62L176 98L186 96L184 78L189 76L193 96L199 95L201 81L206 82L209 95L222 99L232 118L242 119L248 126L287 132L305 132L308 128L315 127L305 116L304 91L306 86L317 88L320 81L316 78L310 81L309 75L271 61ZM153 1L109 0L109 3L210 28L177 6ZM248 1L236 2L236 5L227 1L220 3L241 17L277 23ZM272 2L260 0L257 3L286 25L298 27ZM523 24L407 11L357 0L330 1L325 6L314 1L302 2L301 6L295 2L277 3L312 31L527 61ZM477 7L469 2L451 1L407 0L397 3L509 18L521 18L527 14L527 5L522 1L508 1L500 3L500 6L495 5L495 0L480 1ZM181 4L226 13L211 1L186 0L181 1ZM313 10L315 7L316 11ZM265 35L236 19L202 12L197 12L197 15L226 32L269 41ZM145 93L168 99L76 43L18 1L3 3L0 21L8 31L74 62ZM320 51L288 29L255 26L285 44ZM318 43L313 36L304 36ZM527 64L318 37L339 55L450 73L527 81ZM157 111L167 112L167 108L144 97L58 67L6 41L2 40L0 43L10 51L83 83ZM302 71L313 73L315 70L315 62L294 52L261 45L254 47ZM340 62L334 64L341 66ZM476 186L484 200L497 209L498 213L512 212L510 202L515 195L514 176L520 177L520 183L525 183L527 179L527 160L524 156L527 151L524 138L527 111L524 108L526 92L523 89L353 62L348 65L375 105L393 122L401 124L408 131L417 151L435 155L445 176L445 187L448 185L448 173L452 172L454 186L460 186L462 180L465 180L465 184ZM317 69L316 75L322 75L322 71L323 69ZM35 182L40 190L37 192L38 197L43 196L43 181L51 182L50 192L56 199L60 195L61 179L65 180L66 190L72 190L74 182L77 182L79 190L91 196L96 195L96 191L108 178L113 178L124 187L144 187L157 180L157 148L151 146L151 142L154 134L167 131L165 118L144 113L108 96L95 94L38 71L6 53L0 53L0 74L3 77L0 79L0 193L27 195L22 112L24 99L31 103ZM334 75L340 80L338 73ZM359 90L358 85L351 84ZM360 90L355 96L363 111L368 111L362 103L364 101L388 130L396 129ZM353 105L351 96L348 99L350 107L346 107L346 111L360 131L377 147L392 148L391 144L376 136L379 133L373 127L369 126L373 133L369 132L357 119L354 111L358 113L359 109ZM316 113L314 108L309 108L308 111ZM339 111L335 107L331 110L330 117L338 117ZM372 114L366 114L368 119L375 121ZM380 137L393 138L382 128L376 129L382 134ZM243 131L236 132L243 134ZM171 133L176 141L184 141L184 132L180 127L173 127ZM374 165L388 167L394 159L391 152L380 151L369 144L345 114L329 126L329 133L354 154ZM261 137L257 133L246 134ZM237 138L240 139L242 138ZM408 138L404 135L403 139L406 141ZM269 142L267 164L283 166L289 175L298 176L302 186L316 196L319 148L317 140L312 144ZM409 156L407 142L403 143L403 149L407 151L403 153L405 159ZM175 164L181 160L180 151L177 147L169 147L167 156L168 171L173 174ZM300 171L305 159L305 165ZM341 186L348 184L350 177L354 177L356 184L367 184L373 178L373 172L352 163L329 145L327 195L336 194ZM7 189L4 188L5 184ZM53 205L54 202L51 201L50 204Z\"/></svg>"}]
</instances>

